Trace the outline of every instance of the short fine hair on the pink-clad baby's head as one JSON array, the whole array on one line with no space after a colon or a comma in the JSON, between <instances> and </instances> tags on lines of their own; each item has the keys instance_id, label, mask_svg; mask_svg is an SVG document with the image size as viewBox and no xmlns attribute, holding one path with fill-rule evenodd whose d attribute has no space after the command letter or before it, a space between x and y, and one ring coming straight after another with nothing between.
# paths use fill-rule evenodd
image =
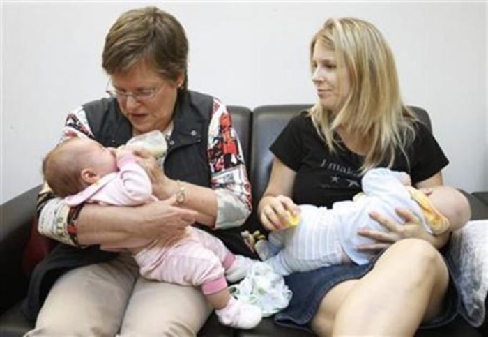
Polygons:
<instances>
[{"instance_id":1,"label":"short fine hair on the pink-clad baby's head","mask_svg":"<svg viewBox=\"0 0 488 337\"><path fill-rule=\"evenodd\" d=\"M59 143L47 153L43 160L43 176L49 187L59 197L73 195L82 190L84 182L82 171L84 147L75 147L78 137Z\"/></svg>"}]
</instances>

